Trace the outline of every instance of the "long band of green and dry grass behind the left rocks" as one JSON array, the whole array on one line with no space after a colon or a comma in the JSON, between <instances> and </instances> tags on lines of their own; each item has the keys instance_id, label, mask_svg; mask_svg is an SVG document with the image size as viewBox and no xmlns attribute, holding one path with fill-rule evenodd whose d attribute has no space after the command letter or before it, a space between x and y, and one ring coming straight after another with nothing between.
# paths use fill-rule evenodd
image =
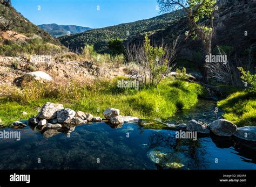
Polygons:
<instances>
[{"instance_id":1,"label":"long band of green and dry grass behind the left rocks","mask_svg":"<svg viewBox=\"0 0 256 187\"><path fill-rule=\"evenodd\" d=\"M188 109L198 101L203 88L196 83L166 78L158 88L118 88L118 77L110 81L99 80L93 86L70 82L40 83L25 81L22 89L0 88L0 119L8 126L13 121L36 116L38 107L46 102L62 103L75 111L90 112L101 116L107 107L120 109L123 116L143 119L166 119L177 110ZM22 111L28 112L23 116Z\"/></svg>"}]
</instances>

